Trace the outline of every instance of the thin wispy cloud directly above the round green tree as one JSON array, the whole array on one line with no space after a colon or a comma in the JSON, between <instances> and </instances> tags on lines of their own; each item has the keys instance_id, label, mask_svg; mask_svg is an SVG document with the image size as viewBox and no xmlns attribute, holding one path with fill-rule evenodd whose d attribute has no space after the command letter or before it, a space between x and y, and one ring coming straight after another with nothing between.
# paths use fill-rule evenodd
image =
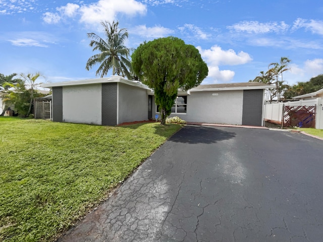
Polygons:
<instances>
[{"instance_id":1,"label":"thin wispy cloud directly above the round green tree","mask_svg":"<svg viewBox=\"0 0 323 242\"><path fill-rule=\"evenodd\" d=\"M161 27L161 26L146 27L146 25L139 25L134 29L130 30L130 32L148 39L165 37L174 33L173 30L165 27Z\"/></svg>"}]
</instances>

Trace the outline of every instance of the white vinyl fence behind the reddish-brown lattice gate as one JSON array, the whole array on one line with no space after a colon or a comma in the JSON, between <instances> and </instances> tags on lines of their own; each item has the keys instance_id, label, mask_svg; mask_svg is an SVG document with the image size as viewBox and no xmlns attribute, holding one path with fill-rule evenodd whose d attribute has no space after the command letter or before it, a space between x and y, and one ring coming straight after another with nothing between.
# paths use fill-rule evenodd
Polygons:
<instances>
[{"instance_id":1,"label":"white vinyl fence behind the reddish-brown lattice gate","mask_svg":"<svg viewBox=\"0 0 323 242\"><path fill-rule=\"evenodd\" d=\"M282 122L283 105L285 106L315 106L316 105L316 117L315 128L323 129L323 100L321 98L310 100L299 100L292 102L280 102L264 105L264 119L272 120L277 123Z\"/></svg>"}]
</instances>

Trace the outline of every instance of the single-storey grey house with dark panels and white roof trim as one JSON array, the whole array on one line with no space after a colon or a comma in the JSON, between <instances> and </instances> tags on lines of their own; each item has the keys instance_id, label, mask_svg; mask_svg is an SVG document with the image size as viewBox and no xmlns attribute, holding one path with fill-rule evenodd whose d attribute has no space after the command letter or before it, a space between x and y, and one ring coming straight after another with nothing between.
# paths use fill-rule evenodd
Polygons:
<instances>
[{"instance_id":1,"label":"single-storey grey house with dark panels and white roof trim","mask_svg":"<svg viewBox=\"0 0 323 242\"><path fill-rule=\"evenodd\" d=\"M119 125L158 114L154 93L119 76L44 84L52 88L52 119L57 122ZM264 90L257 82L200 85L179 91L171 116L186 122L263 125Z\"/></svg>"}]
</instances>

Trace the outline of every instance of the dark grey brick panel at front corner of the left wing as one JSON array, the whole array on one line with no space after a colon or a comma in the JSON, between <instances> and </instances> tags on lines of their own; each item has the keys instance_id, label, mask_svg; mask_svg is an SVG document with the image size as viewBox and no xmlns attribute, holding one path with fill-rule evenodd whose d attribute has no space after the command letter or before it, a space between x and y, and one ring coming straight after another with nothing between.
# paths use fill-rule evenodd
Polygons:
<instances>
[{"instance_id":1,"label":"dark grey brick panel at front corner of the left wing","mask_svg":"<svg viewBox=\"0 0 323 242\"><path fill-rule=\"evenodd\" d=\"M102 125L117 125L118 83L102 83Z\"/></svg>"}]
</instances>

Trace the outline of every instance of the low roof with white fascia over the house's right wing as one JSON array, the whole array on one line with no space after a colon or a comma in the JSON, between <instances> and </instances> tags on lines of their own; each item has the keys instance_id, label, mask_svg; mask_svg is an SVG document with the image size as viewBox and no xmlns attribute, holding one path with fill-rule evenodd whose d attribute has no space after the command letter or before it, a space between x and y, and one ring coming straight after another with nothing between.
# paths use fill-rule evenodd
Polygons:
<instances>
[{"instance_id":1,"label":"low roof with white fascia over the house's right wing","mask_svg":"<svg viewBox=\"0 0 323 242\"><path fill-rule=\"evenodd\" d=\"M223 83L223 84L206 84L199 85L190 89L190 92L200 91L225 91L225 90L254 90L254 89L272 89L273 85L260 82L240 82L240 83Z\"/></svg>"}]
</instances>

